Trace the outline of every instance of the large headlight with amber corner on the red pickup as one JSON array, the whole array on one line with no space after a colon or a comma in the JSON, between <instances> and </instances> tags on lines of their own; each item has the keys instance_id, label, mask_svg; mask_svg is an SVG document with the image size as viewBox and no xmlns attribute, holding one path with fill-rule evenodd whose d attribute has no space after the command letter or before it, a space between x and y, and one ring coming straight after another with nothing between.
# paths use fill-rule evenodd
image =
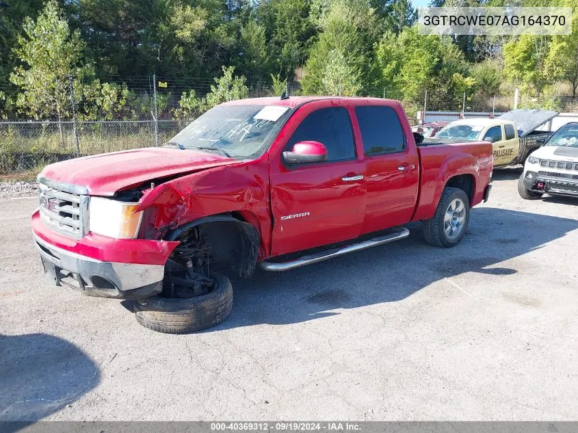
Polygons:
<instances>
[{"instance_id":1,"label":"large headlight with amber corner on the red pickup","mask_svg":"<svg viewBox=\"0 0 578 433\"><path fill-rule=\"evenodd\" d=\"M135 239L142 220L142 211L135 212L137 207L138 203L91 197L88 211L90 231L118 239Z\"/></svg>"}]
</instances>

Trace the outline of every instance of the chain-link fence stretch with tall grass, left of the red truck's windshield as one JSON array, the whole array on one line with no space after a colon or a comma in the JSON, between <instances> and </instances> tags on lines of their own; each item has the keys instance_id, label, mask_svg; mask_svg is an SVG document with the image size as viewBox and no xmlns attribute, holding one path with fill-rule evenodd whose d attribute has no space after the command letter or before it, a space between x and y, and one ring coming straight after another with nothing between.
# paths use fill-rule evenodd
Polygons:
<instances>
[{"instance_id":1,"label":"chain-link fence stretch with tall grass, left of the red truck's windshield","mask_svg":"<svg viewBox=\"0 0 578 433\"><path fill-rule=\"evenodd\" d=\"M189 122L0 122L0 174L39 172L65 159L159 146Z\"/></svg>"}]
</instances>

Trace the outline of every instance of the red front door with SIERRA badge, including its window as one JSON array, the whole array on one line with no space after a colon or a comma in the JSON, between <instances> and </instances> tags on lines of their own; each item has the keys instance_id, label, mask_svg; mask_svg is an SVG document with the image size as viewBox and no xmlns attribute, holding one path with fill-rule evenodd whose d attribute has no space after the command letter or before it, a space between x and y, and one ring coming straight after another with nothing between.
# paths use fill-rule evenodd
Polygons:
<instances>
[{"instance_id":1,"label":"red front door with SIERRA badge, including its window","mask_svg":"<svg viewBox=\"0 0 578 433\"><path fill-rule=\"evenodd\" d=\"M304 105L291 120L299 122L270 163L274 220L272 256L353 239L365 218L365 163L358 159L346 101ZM321 163L291 165L283 151L303 141L328 150Z\"/></svg>"}]
</instances>

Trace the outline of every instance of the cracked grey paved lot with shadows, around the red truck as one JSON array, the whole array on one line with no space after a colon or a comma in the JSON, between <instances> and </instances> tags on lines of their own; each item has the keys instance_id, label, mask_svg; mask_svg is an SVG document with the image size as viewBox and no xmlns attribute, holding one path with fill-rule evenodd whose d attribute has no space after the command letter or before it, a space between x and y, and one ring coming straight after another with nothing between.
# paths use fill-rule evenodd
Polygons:
<instances>
[{"instance_id":1,"label":"cracked grey paved lot with shadows, around the red truck","mask_svg":"<svg viewBox=\"0 0 578 433\"><path fill-rule=\"evenodd\" d=\"M160 334L44 283L33 198L0 200L0 419L578 418L578 200L495 174L460 246L409 239L233 280L206 332Z\"/></svg>"}]
</instances>

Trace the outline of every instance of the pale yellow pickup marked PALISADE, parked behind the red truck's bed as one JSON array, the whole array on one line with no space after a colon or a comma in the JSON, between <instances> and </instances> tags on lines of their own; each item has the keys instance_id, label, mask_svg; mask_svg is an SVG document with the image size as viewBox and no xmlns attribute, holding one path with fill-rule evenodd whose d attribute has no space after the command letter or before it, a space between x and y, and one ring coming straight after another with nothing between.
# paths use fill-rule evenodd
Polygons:
<instances>
[{"instance_id":1,"label":"pale yellow pickup marked PALISADE, parked behind the red truck's bed","mask_svg":"<svg viewBox=\"0 0 578 433\"><path fill-rule=\"evenodd\" d=\"M557 114L556 111L514 109L497 118L460 119L443 127L435 138L490 142L494 168L516 166L523 164L528 155L551 135L551 132L536 129Z\"/></svg>"}]
</instances>

